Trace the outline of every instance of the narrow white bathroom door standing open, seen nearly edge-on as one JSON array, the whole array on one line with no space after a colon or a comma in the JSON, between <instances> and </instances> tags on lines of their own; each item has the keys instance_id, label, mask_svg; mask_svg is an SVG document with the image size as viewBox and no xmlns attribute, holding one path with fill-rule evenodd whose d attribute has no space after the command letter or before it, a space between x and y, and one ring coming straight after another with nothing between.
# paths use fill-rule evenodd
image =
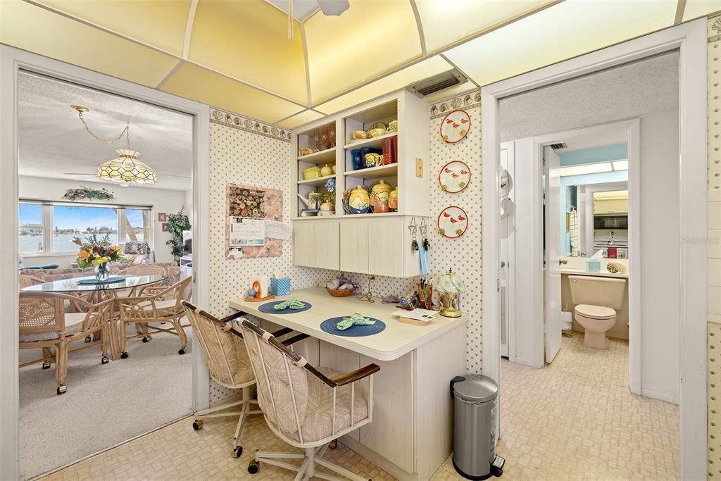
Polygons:
<instances>
[{"instance_id":1,"label":"narrow white bathroom door standing open, seen nearly edge-on","mask_svg":"<svg viewBox=\"0 0 721 481\"><path fill-rule=\"evenodd\" d=\"M544 147L546 167L546 268L544 270L544 335L546 362L561 348L561 159Z\"/></svg>"}]
</instances>

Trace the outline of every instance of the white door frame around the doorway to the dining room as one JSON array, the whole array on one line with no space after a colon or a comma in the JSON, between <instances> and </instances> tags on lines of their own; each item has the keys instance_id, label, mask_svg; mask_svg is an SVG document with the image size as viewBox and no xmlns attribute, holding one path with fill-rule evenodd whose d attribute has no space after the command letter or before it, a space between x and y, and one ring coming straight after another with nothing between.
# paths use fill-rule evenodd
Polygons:
<instances>
[{"instance_id":1,"label":"white door frame around the doorway to the dining room","mask_svg":"<svg viewBox=\"0 0 721 481\"><path fill-rule=\"evenodd\" d=\"M194 302L208 305L208 160L210 109L192 100L99 74L34 53L0 45L0 466L7 480L18 472L18 285L17 285L17 74L32 71L194 116L193 287ZM209 377L193 338L193 408L208 405Z\"/></svg>"}]
</instances>

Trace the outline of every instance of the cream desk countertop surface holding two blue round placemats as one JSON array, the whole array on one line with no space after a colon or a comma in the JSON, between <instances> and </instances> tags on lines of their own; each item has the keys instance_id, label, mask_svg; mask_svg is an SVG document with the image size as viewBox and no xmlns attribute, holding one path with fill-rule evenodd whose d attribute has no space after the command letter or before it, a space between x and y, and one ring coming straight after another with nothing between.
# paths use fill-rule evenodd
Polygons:
<instances>
[{"instance_id":1,"label":"cream desk countertop surface holding two blue round placemats","mask_svg":"<svg viewBox=\"0 0 721 481\"><path fill-rule=\"evenodd\" d=\"M333 297L322 287L293 291L291 296L309 302L313 306L312 309L292 314L267 314L260 312L258 308L271 301L248 302L244 299L233 299L230 301L230 306L378 361L393 361L466 322L465 317L452 318L438 314L432 322L424 326L406 324L399 322L397 316L391 315L392 312L399 310L395 304L381 304L381 299L376 299L371 304L359 301L355 294L348 297ZM284 301L291 296L278 296L272 302ZM356 311L366 317L381 319L386 323L386 328L383 332L365 337L342 337L329 334L320 328L325 319L350 316Z\"/></svg>"}]
</instances>

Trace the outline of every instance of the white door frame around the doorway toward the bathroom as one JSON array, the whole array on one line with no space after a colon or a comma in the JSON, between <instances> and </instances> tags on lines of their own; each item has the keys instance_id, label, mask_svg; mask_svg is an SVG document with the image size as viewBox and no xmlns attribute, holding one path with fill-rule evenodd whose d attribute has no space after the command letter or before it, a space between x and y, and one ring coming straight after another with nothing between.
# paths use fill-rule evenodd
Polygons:
<instances>
[{"instance_id":1,"label":"white door frame around the doorway toward the bathroom","mask_svg":"<svg viewBox=\"0 0 721 481\"><path fill-rule=\"evenodd\" d=\"M500 380L498 333L498 101L559 81L609 69L669 50L679 50L679 204L681 231L680 446L681 479L705 479L707 467L706 318L706 19L645 35L481 89L483 372ZM684 239L687 239L684 242ZM501 387L503 389L503 387Z\"/></svg>"}]
</instances>

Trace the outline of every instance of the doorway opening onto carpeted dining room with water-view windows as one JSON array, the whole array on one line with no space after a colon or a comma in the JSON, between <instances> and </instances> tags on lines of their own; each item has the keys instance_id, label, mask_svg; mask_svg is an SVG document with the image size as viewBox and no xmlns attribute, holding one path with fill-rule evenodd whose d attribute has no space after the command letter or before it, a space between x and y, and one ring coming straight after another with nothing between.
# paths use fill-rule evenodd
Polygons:
<instances>
[{"instance_id":1,"label":"doorway opening onto carpeted dining room with water-view windows","mask_svg":"<svg viewBox=\"0 0 721 481\"><path fill-rule=\"evenodd\" d=\"M30 479L193 410L180 300L195 287L195 138L193 115L29 70L17 105L19 477Z\"/></svg>"}]
</instances>

